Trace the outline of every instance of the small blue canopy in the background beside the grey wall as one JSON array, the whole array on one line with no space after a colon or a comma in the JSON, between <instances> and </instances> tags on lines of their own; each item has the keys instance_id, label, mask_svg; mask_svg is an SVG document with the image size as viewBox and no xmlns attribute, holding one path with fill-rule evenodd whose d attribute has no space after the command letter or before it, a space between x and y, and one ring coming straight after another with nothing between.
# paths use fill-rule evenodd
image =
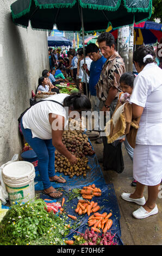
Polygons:
<instances>
[{"instance_id":1,"label":"small blue canopy in the background beside the grey wall","mask_svg":"<svg viewBox=\"0 0 162 256\"><path fill-rule=\"evenodd\" d=\"M72 46L72 42L63 36L48 36L48 46Z\"/></svg>"}]
</instances>

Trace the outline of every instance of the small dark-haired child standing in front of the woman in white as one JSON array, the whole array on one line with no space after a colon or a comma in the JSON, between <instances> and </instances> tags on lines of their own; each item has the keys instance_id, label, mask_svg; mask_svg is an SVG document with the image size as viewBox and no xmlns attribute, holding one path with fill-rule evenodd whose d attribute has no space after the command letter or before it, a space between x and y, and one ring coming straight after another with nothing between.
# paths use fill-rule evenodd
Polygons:
<instances>
[{"instance_id":1,"label":"small dark-haired child standing in front of the woman in white","mask_svg":"<svg viewBox=\"0 0 162 256\"><path fill-rule=\"evenodd\" d=\"M129 102L130 95L132 94L133 91L133 83L135 76L136 75L132 72L126 72L120 77L120 87L122 89L122 93L120 93L119 95L119 101L121 103ZM130 147L127 138L125 138L125 140L122 141L124 142L124 146L127 150L130 159L133 161L133 148ZM136 186L136 180L133 180L131 185Z\"/></svg>"}]
</instances>

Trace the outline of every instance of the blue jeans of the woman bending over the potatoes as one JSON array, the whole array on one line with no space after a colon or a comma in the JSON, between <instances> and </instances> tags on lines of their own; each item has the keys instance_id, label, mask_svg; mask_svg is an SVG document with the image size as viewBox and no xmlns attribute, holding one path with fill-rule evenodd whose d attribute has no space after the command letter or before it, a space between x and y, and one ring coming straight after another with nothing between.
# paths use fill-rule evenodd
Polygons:
<instances>
[{"instance_id":1,"label":"blue jeans of the woman bending over the potatoes","mask_svg":"<svg viewBox=\"0 0 162 256\"><path fill-rule=\"evenodd\" d=\"M24 129L21 119L21 130L24 138L30 147L35 151L38 156L38 170L43 182L43 187L46 189L51 187L49 177L55 175L54 168L54 152L55 148L52 145L52 139L40 139L32 138L32 131L30 129Z\"/></svg>"}]
</instances>

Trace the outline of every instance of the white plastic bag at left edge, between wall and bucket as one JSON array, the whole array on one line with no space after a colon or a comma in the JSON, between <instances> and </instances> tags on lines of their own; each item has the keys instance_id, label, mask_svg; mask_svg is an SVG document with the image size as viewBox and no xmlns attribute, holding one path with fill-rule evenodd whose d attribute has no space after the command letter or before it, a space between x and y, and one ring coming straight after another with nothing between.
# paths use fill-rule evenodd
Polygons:
<instances>
[{"instance_id":1,"label":"white plastic bag at left edge, between wall and bucket","mask_svg":"<svg viewBox=\"0 0 162 256\"><path fill-rule=\"evenodd\" d=\"M3 174L2 174L3 168L8 163L15 162L17 160L18 160L18 154L15 154L13 156L13 158L11 159L11 161L2 164L2 166L0 167L0 200L2 201L2 204L6 204L7 203L6 200L9 200L7 188L6 188L6 186L4 184L4 181L3 181Z\"/></svg>"}]
</instances>

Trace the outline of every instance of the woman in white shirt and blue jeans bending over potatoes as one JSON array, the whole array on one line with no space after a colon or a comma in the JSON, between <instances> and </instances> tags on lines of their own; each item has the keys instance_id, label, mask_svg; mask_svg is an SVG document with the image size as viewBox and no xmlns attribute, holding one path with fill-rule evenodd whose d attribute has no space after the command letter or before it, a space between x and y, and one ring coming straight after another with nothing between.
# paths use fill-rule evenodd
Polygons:
<instances>
[{"instance_id":1,"label":"woman in white shirt and blue jeans bending over potatoes","mask_svg":"<svg viewBox=\"0 0 162 256\"><path fill-rule=\"evenodd\" d=\"M68 113L65 107L68 107ZM62 142L64 127L68 124L68 114L71 111L81 112L89 109L91 109L91 103L85 95L80 93L74 93L70 96L57 94L36 103L28 109L21 119L23 136L38 156L38 169L43 182L43 193L53 198L59 198L63 196L63 193L55 190L51 181L66 182L61 176L55 175L55 149L64 155L72 165L77 162L77 158L67 150Z\"/></svg>"}]
</instances>

